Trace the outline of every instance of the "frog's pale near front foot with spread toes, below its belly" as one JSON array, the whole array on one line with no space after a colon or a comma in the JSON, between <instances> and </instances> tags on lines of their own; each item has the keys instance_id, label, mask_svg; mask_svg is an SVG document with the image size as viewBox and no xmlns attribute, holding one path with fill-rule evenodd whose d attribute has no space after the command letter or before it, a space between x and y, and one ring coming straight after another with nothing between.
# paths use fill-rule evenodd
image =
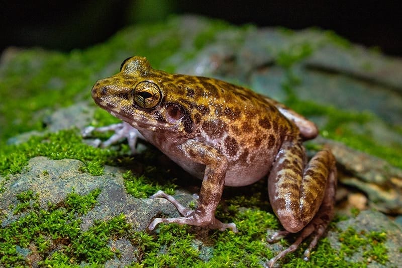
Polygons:
<instances>
[{"instance_id":1,"label":"frog's pale near front foot with spread toes, below its belly","mask_svg":"<svg viewBox=\"0 0 402 268\"><path fill-rule=\"evenodd\" d=\"M156 218L149 224L149 230L153 230L156 225L159 223L177 223L177 224L188 224L188 225L196 225L196 226L208 226L210 229L218 229L220 231L225 231L226 229L231 229L233 232L237 233L238 230L236 228L236 224L232 223L223 223L220 220L216 219L214 215L212 215L212 219L206 213L202 213L200 210L191 210L183 205L181 205L174 197L167 195L163 191L158 191L150 198L164 198L167 199L170 203L172 203L177 211L183 216L179 218Z\"/></svg>"}]
</instances>

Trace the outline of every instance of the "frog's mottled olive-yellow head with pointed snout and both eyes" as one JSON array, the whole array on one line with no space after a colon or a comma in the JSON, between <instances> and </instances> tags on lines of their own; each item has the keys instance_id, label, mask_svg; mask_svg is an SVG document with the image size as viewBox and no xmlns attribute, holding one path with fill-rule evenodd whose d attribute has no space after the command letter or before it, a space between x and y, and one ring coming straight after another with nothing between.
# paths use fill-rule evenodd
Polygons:
<instances>
[{"instance_id":1,"label":"frog's mottled olive-yellow head with pointed snout and both eyes","mask_svg":"<svg viewBox=\"0 0 402 268\"><path fill-rule=\"evenodd\" d=\"M172 75L154 70L144 57L123 61L120 72L92 88L97 105L135 128L190 133L192 120L177 99ZM169 97L167 97L169 93Z\"/></svg>"}]
</instances>

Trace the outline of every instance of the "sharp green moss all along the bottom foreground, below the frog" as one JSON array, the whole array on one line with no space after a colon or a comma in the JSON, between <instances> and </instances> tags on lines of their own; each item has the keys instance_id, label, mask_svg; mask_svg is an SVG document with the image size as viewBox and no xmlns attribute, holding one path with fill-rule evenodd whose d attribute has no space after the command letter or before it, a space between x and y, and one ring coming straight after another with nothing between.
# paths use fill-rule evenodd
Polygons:
<instances>
[{"instance_id":1,"label":"sharp green moss all along the bottom foreground, below the frog","mask_svg":"<svg viewBox=\"0 0 402 268\"><path fill-rule=\"evenodd\" d=\"M48 204L46 210L40 209L38 197L32 191L18 194L20 203L14 213L21 217L0 229L0 263L5 267L17 267L40 258L38 264L43 266L79 266L82 263L102 266L110 259L119 258L119 251L110 247L109 241L120 238L128 239L138 248L135 256L141 261L133 262L132 267L155 264L158 267L260 267L264 259L275 254L267 248L266 230L279 228L278 221L272 212L266 211L268 204L258 194L235 195L225 201L230 206L220 206L218 217L224 221L234 220L240 230L238 234L176 224L162 224L155 232L133 232L124 215L95 221L89 229L81 231L81 221L77 217L93 208L99 193L98 189L86 196L72 192L60 203L62 205ZM334 228L333 223L330 229ZM361 251L365 259L385 264L385 240L385 232L358 233L349 227L340 231L339 250L323 238L311 260L306 262L299 258L307 246L304 242L302 247L286 256L283 267L364 267L366 262L345 260ZM283 247L289 245L286 240L280 243ZM23 248L29 248L28 255L24 255Z\"/></svg>"}]
</instances>

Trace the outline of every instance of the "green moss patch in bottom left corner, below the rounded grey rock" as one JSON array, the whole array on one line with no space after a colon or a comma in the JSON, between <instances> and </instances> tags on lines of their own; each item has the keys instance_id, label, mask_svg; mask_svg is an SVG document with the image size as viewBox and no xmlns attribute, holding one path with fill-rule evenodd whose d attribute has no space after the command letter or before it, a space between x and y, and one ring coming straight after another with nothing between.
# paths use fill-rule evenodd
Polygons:
<instances>
[{"instance_id":1,"label":"green moss patch in bottom left corner, below the rounded grey rock","mask_svg":"<svg viewBox=\"0 0 402 268\"><path fill-rule=\"evenodd\" d=\"M10 225L0 229L0 266L25 266L28 263L21 253L21 248L35 250L42 258L39 265L78 265L105 263L118 256L108 245L110 239L127 235L131 228L124 215L109 221L95 221L93 226L82 232L81 220L77 215L87 213L96 203L100 190L94 190L86 196L70 194L61 205L40 209L37 195L26 191L17 195L21 203L30 202L25 215ZM21 212L19 212L21 213ZM56 251L53 243L62 244Z\"/></svg>"}]
</instances>

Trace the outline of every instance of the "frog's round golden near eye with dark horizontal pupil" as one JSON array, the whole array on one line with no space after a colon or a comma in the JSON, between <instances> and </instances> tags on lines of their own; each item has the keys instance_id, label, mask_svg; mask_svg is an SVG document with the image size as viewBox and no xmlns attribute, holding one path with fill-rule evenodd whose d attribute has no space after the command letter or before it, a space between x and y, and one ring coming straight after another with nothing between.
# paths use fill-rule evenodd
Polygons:
<instances>
[{"instance_id":1,"label":"frog's round golden near eye with dark horizontal pupil","mask_svg":"<svg viewBox=\"0 0 402 268\"><path fill-rule=\"evenodd\" d=\"M159 87L149 81L139 82L134 88L133 96L135 104L143 109L154 108L162 99Z\"/></svg>"}]
</instances>

